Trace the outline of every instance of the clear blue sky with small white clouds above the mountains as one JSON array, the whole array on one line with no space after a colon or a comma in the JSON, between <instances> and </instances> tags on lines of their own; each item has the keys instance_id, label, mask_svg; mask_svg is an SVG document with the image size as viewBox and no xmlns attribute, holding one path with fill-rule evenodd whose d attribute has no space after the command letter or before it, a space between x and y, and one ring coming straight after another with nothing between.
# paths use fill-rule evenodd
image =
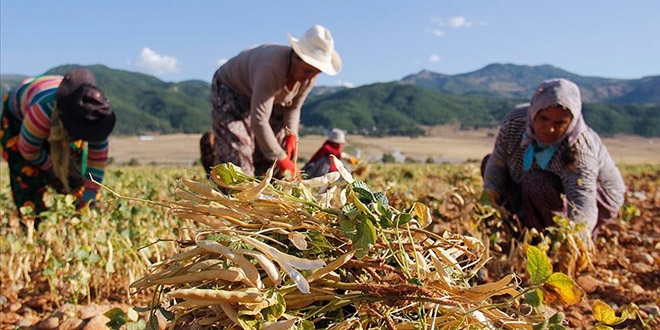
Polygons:
<instances>
[{"instance_id":1,"label":"clear blue sky with small white clouds above the mountains","mask_svg":"<svg viewBox=\"0 0 660 330\"><path fill-rule=\"evenodd\" d=\"M426 69L550 64L583 76L660 74L658 0L0 1L0 73L103 64L164 81L210 81L243 49L330 29L344 63L318 85Z\"/></svg>"}]
</instances>

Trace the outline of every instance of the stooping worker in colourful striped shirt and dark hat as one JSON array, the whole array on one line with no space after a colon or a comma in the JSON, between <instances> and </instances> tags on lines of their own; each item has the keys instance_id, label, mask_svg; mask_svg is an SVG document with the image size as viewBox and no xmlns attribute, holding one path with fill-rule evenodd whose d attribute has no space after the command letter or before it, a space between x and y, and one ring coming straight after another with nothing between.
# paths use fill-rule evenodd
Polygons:
<instances>
[{"instance_id":1,"label":"stooping worker in colourful striped shirt and dark hat","mask_svg":"<svg viewBox=\"0 0 660 330\"><path fill-rule=\"evenodd\" d=\"M79 208L97 203L90 176L103 180L116 117L89 70L25 79L4 95L2 109L2 156L19 213L46 210L48 186L77 196Z\"/></svg>"}]
</instances>

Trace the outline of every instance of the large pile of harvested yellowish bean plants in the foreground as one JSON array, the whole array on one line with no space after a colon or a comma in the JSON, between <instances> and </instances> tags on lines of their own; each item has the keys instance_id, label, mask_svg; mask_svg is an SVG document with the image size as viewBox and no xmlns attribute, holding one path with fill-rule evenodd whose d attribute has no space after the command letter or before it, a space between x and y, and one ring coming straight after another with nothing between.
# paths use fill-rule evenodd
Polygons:
<instances>
[{"instance_id":1,"label":"large pile of harvested yellowish bean plants in the foreground","mask_svg":"<svg viewBox=\"0 0 660 330\"><path fill-rule=\"evenodd\" d=\"M293 182L231 164L182 180L168 207L194 240L131 288L153 289L152 313L173 328L532 329L516 276L471 284L481 241L427 230L425 205L396 210L336 163Z\"/></svg>"}]
</instances>

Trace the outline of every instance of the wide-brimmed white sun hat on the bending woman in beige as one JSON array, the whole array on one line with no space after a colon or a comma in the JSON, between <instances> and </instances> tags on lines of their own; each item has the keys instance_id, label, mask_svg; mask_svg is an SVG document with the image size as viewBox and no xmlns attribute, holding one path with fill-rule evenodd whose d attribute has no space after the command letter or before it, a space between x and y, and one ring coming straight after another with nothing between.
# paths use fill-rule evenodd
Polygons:
<instances>
[{"instance_id":1,"label":"wide-brimmed white sun hat on the bending woman in beige","mask_svg":"<svg viewBox=\"0 0 660 330\"><path fill-rule=\"evenodd\" d=\"M335 50L335 41L330 30L321 25L314 25L300 40L290 33L287 33L287 36L291 48L305 63L330 76L337 75L341 71L341 57Z\"/></svg>"}]
</instances>

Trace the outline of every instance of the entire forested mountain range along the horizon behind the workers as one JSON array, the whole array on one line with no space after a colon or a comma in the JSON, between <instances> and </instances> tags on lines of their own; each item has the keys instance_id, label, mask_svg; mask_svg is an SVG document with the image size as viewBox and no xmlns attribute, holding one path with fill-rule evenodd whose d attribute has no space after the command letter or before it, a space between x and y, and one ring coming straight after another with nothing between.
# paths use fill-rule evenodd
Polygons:
<instances>
[{"instance_id":1,"label":"entire forested mountain range along the horizon behind the workers","mask_svg":"<svg viewBox=\"0 0 660 330\"><path fill-rule=\"evenodd\" d=\"M64 74L63 65L45 74ZM210 85L164 82L153 76L86 66L117 113L114 134L201 133L211 127ZM303 106L303 132L331 127L375 136L424 134L423 127L495 127L515 104L527 102L543 80L566 77L583 94L587 123L601 135L660 136L660 76L583 77L550 66L492 64L458 75L421 71L399 81L356 88L317 86ZM2 94L25 76L2 75Z\"/></svg>"}]
</instances>

